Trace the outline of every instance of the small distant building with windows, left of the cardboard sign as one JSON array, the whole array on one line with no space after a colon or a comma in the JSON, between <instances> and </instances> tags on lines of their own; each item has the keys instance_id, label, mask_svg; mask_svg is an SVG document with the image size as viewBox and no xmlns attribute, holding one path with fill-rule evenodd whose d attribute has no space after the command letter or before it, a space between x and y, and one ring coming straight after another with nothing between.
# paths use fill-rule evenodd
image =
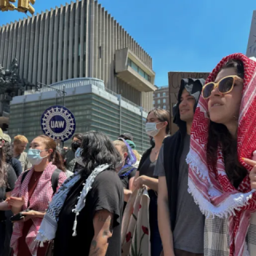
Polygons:
<instances>
[{"instance_id":1,"label":"small distant building with windows, left of the cardboard sign","mask_svg":"<svg viewBox=\"0 0 256 256\"><path fill-rule=\"evenodd\" d=\"M154 108L170 110L168 86L158 87L158 89L154 91L153 106Z\"/></svg>"}]
</instances>

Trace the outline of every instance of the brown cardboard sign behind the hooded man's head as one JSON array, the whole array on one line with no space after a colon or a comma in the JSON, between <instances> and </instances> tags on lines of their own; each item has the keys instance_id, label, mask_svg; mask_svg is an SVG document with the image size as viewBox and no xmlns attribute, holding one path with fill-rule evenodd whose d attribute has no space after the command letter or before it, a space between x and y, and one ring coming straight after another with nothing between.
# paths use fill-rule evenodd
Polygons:
<instances>
[{"instance_id":1,"label":"brown cardboard sign behind the hooded man's head","mask_svg":"<svg viewBox=\"0 0 256 256\"><path fill-rule=\"evenodd\" d=\"M176 126L174 121L174 115L173 115L173 107L178 101L178 90L181 85L181 80L183 78L206 78L208 77L209 73L207 72L169 72L168 73L168 83L169 83L169 102L170 102L170 120L171 120L171 126L170 126L170 132L171 134L174 134L178 130L178 126Z\"/></svg>"}]
</instances>

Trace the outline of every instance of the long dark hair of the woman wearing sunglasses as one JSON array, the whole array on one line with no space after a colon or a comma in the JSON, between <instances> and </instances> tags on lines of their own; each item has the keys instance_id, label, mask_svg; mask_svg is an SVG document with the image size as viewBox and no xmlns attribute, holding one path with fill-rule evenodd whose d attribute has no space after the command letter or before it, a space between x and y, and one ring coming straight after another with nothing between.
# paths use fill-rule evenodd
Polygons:
<instances>
[{"instance_id":1,"label":"long dark hair of the woman wearing sunglasses","mask_svg":"<svg viewBox=\"0 0 256 256\"><path fill-rule=\"evenodd\" d=\"M241 61L231 59L226 62L222 70L226 68L234 68L238 77L244 77L244 66ZM221 145L227 177L233 186L238 187L246 177L247 170L238 162L237 139L232 137L226 126L212 121L208 135L206 146L208 165L214 165L216 168L218 145Z\"/></svg>"}]
</instances>

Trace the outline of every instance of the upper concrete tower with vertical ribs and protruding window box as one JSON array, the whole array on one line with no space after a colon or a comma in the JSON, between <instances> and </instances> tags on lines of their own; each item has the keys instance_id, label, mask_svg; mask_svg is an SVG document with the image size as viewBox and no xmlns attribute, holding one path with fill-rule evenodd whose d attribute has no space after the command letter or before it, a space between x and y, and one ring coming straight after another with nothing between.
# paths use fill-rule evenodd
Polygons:
<instances>
[{"instance_id":1,"label":"upper concrete tower with vertical ribs and protruding window box","mask_svg":"<svg viewBox=\"0 0 256 256\"><path fill-rule=\"evenodd\" d=\"M0 27L0 64L18 58L21 78L50 85L98 78L146 110L153 107L152 58L94 0L66 3Z\"/></svg>"}]
</instances>

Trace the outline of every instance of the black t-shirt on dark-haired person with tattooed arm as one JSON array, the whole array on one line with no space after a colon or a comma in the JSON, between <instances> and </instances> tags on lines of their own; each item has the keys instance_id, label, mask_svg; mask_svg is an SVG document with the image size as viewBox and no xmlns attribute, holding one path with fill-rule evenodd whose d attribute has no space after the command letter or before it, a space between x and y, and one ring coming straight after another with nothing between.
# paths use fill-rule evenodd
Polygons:
<instances>
[{"instance_id":1,"label":"black t-shirt on dark-haired person with tattooed arm","mask_svg":"<svg viewBox=\"0 0 256 256\"><path fill-rule=\"evenodd\" d=\"M114 214L113 235L109 239L106 256L120 256L123 187L113 170L105 170L95 178L86 196L86 206L78 215L77 236L72 236L75 216L72 210L78 202L84 182L81 179L73 186L62 207L54 239L54 256L89 255L90 243L94 238L94 214L103 209Z\"/></svg>"}]
</instances>

